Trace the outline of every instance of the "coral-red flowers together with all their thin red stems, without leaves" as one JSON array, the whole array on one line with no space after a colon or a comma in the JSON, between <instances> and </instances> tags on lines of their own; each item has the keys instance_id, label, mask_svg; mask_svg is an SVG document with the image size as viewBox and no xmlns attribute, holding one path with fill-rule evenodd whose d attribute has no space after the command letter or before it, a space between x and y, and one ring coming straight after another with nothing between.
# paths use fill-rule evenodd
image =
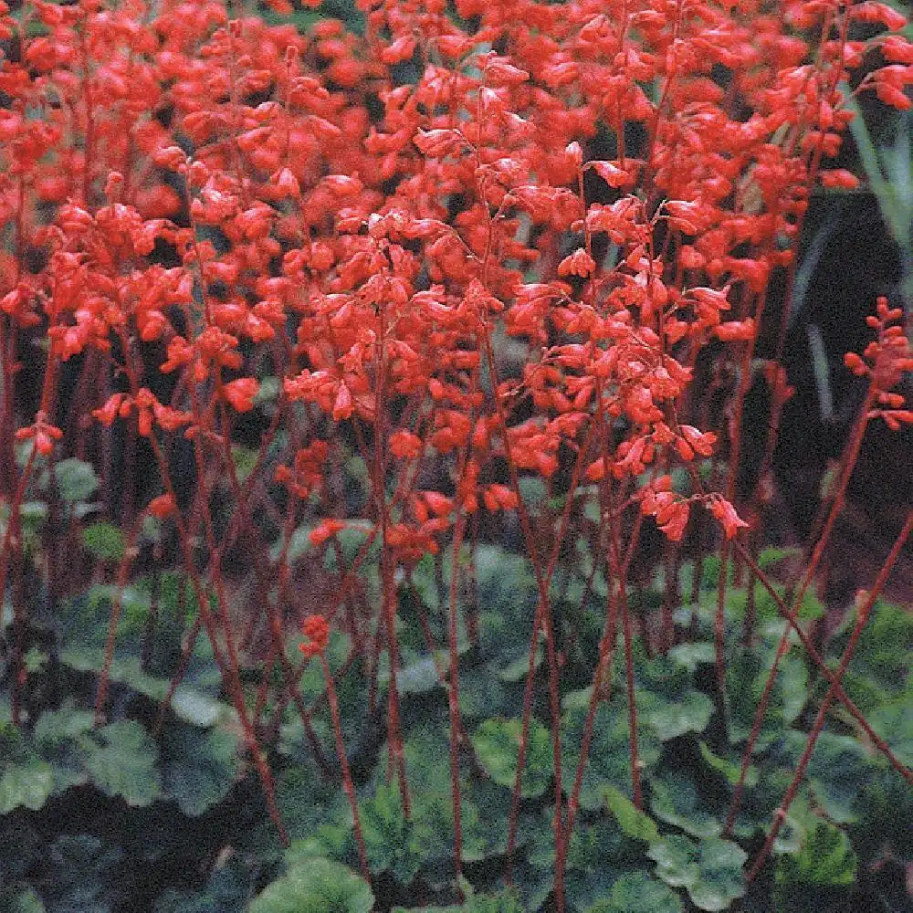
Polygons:
<instances>
[{"instance_id":1,"label":"coral-red flowers together with all their thin red stems, without leaves","mask_svg":"<svg viewBox=\"0 0 913 913\"><path fill-rule=\"evenodd\" d=\"M269 717L295 708L335 775L299 694L302 669L320 662L370 877L333 681L360 663L372 712L385 701L388 775L408 819L399 602L433 556L446 644L429 648L442 648L458 883L460 770L473 751L459 670L478 643L464 589L473 543L508 538L529 563L537 606L506 852L541 718L562 910L616 636L639 810L635 654L687 639L674 614L688 598L678 569L697 556L697 585L701 556L717 552L721 702L729 565L760 581L789 622L729 831L796 636L827 682L751 878L834 702L910 780L841 681L911 519L858 601L839 666L824 664L797 618L866 423L913 421L896 392L913 357L887 300L875 340L847 355L868 394L800 580L784 595L756 559L791 395L780 366L789 306L767 306L771 276L792 287L813 189L857 183L828 164L849 97L913 104L913 45L897 34L907 19L843 0L359 0L358 10L352 31L319 16L296 28L287 0L259 15L210 0L0 2L0 592L13 594L12 721L27 722L30 609L16 594L34 572L21 509L46 464L78 457L97 468L96 509L126 544L94 582L126 585L143 530L158 524L157 554L171 552L198 606L184 661L205 636L284 841ZM760 473L738 488L756 383L770 394L770 431ZM83 521L67 519L72 536ZM667 540L666 598L655 618L635 618L629 583L651 526ZM604 624L568 769L560 722L572 642L553 583L584 529L605 581ZM334 568L319 604L302 548L306 563ZM376 586L360 599L366 567ZM43 572L55 598L78 582L59 548ZM120 612L115 600L97 725L110 712ZM296 660L287 621L318 613ZM752 625L749 612L746 643ZM350 645L334 670L329 628ZM262 678L251 697L255 643Z\"/></svg>"}]
</instances>

